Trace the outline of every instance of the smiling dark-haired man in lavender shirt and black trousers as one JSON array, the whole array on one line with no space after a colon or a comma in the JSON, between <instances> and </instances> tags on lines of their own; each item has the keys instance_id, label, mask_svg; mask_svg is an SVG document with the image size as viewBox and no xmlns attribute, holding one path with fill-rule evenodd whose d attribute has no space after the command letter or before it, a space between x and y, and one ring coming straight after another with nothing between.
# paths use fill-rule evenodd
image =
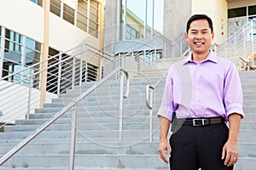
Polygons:
<instances>
[{"instance_id":1,"label":"smiling dark-haired man in lavender shirt and black trousers","mask_svg":"<svg viewBox=\"0 0 256 170\"><path fill-rule=\"evenodd\" d=\"M158 111L160 158L172 170L233 169L244 116L240 77L235 65L210 51L214 33L207 15L191 16L184 37L192 53L169 69Z\"/></svg>"}]
</instances>

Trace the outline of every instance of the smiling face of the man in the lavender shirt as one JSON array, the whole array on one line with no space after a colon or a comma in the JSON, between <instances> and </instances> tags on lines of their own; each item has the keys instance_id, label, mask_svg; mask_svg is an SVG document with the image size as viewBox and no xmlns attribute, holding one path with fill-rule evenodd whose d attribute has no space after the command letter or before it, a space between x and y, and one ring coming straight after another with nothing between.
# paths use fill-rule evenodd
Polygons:
<instances>
[{"instance_id":1,"label":"smiling face of the man in the lavender shirt","mask_svg":"<svg viewBox=\"0 0 256 170\"><path fill-rule=\"evenodd\" d=\"M207 56L211 47L214 34L212 33L207 20L194 20L191 22L185 38L189 43L193 54Z\"/></svg>"}]
</instances>

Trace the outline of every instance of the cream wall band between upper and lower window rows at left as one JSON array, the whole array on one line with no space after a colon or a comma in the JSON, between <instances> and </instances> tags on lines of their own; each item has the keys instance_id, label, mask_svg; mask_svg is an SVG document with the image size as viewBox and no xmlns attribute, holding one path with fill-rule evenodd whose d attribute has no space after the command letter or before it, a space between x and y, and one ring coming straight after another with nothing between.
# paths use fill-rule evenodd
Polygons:
<instances>
[{"instance_id":1,"label":"cream wall band between upper and lower window rows at left","mask_svg":"<svg viewBox=\"0 0 256 170\"><path fill-rule=\"evenodd\" d=\"M44 8L28 0L1 0L0 25L38 42L43 42ZM93 47L99 47L99 40L96 37L90 36L55 14L50 14L49 46L51 48L66 51L81 42L88 42Z\"/></svg>"}]
</instances>

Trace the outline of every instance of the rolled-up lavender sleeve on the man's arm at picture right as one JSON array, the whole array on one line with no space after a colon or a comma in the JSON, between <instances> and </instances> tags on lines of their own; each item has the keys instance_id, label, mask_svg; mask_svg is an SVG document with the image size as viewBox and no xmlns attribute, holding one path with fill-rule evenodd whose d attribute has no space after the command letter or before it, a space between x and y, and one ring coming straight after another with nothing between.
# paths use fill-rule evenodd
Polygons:
<instances>
[{"instance_id":1,"label":"rolled-up lavender sleeve on the man's arm at picture right","mask_svg":"<svg viewBox=\"0 0 256 170\"><path fill-rule=\"evenodd\" d=\"M244 117L242 110L242 88L241 80L238 72L236 71L235 65L230 65L230 70L227 72L225 83L224 83L224 105L226 117L230 114L237 113Z\"/></svg>"}]
</instances>

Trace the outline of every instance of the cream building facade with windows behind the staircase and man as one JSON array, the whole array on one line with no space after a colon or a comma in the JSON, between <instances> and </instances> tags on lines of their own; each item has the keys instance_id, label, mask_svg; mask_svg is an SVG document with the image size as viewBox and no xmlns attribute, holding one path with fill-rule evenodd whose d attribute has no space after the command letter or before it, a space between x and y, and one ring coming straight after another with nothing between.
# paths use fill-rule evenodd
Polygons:
<instances>
[{"instance_id":1,"label":"cream building facade with windows behind the staircase and man","mask_svg":"<svg viewBox=\"0 0 256 170\"><path fill-rule=\"evenodd\" d=\"M213 43L220 45L241 26L256 20L256 0L2 0L0 78L11 83L18 82L22 75L17 76L15 72L56 55L55 60L49 59L47 64L54 65L56 61L75 53L72 49L83 43L109 54L109 57L127 53L129 44L140 42L148 45L150 38L156 42L157 37L164 37L172 47L182 46L170 49L149 44L149 48L138 48L134 59L123 61L125 67L131 70L137 62L146 66L148 64L142 63L147 59L152 62L163 57L161 50L166 51L165 57L171 54L181 56L188 49L184 45L183 34L186 21L192 14L207 14L212 18L215 32ZM256 39L255 23L252 35ZM175 54L174 50L180 53ZM105 68L99 55L84 54L79 59L82 69L80 82L96 81L102 77ZM72 62L70 65L77 65ZM38 65L22 74L29 76L42 68L43 65ZM51 74L40 77L34 88L41 88L41 83L45 81L49 86L42 88L42 91L58 94L62 88L52 77L59 77L59 68L48 69ZM75 72L76 68L68 71ZM83 72L87 72L90 77L82 75ZM74 76L67 73L65 77L70 79ZM25 80L21 85L29 84ZM65 86L73 84L68 82Z\"/></svg>"}]
</instances>

